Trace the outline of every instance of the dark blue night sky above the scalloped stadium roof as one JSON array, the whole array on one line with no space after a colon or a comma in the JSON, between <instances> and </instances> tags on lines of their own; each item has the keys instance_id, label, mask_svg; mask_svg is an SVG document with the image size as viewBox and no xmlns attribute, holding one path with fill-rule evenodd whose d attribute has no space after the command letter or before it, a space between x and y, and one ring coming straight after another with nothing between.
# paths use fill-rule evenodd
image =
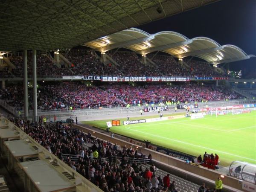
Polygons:
<instances>
[{"instance_id":1,"label":"dark blue night sky above the scalloped stadium roof","mask_svg":"<svg viewBox=\"0 0 256 192\"><path fill-rule=\"evenodd\" d=\"M205 36L256 55L256 0L221 0L137 28L149 33L175 31L188 38ZM256 58L230 63L230 70L240 69L244 75L256 72Z\"/></svg>"}]
</instances>

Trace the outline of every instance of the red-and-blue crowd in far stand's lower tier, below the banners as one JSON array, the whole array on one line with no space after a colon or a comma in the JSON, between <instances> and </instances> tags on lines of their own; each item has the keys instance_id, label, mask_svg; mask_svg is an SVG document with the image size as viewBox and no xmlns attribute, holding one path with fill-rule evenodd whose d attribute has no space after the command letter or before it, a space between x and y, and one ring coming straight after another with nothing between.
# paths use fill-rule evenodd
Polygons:
<instances>
[{"instance_id":1,"label":"red-and-blue crowd in far stand's lower tier, below the banners","mask_svg":"<svg viewBox=\"0 0 256 192\"><path fill-rule=\"evenodd\" d=\"M186 82L182 84L108 84L88 86L77 82L62 82L40 86L39 109L75 109L125 107L126 105L170 102L205 102L239 99L241 96L224 87ZM23 106L23 87L11 86L0 90L0 99L13 107ZM32 90L29 89L29 103Z\"/></svg>"}]
</instances>

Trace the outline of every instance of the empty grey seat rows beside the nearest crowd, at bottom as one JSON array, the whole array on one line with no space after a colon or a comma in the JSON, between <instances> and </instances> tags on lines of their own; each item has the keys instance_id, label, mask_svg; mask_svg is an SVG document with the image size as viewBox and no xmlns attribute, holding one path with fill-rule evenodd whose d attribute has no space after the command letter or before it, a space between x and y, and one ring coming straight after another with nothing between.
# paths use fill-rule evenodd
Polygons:
<instances>
[{"instance_id":1,"label":"empty grey seat rows beside the nearest crowd, at bottom","mask_svg":"<svg viewBox=\"0 0 256 192\"><path fill-rule=\"evenodd\" d=\"M148 164L142 164L141 165L144 169L150 168ZM161 178L165 177L167 174L170 174L170 180L171 182L175 181L175 188L178 192L197 192L198 188L200 187L196 183L192 183L189 180L183 179L181 177L178 177L176 175L173 175L171 173L168 173L166 171L163 171L161 169L157 169L157 171L154 172L154 174L158 177L161 176Z\"/></svg>"}]
</instances>

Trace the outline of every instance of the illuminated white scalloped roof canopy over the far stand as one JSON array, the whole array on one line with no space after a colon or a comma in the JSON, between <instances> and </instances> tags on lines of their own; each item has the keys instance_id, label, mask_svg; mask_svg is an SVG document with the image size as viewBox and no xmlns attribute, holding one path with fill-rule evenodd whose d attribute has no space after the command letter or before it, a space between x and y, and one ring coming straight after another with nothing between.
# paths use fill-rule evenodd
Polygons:
<instances>
[{"instance_id":1,"label":"illuminated white scalloped roof canopy over the far stand","mask_svg":"<svg viewBox=\"0 0 256 192\"><path fill-rule=\"evenodd\" d=\"M141 55L154 51L162 51L176 58L195 56L211 64L229 63L255 57L247 55L242 49L234 45L221 46L207 37L189 39L186 36L172 31L163 31L156 34L130 28L93 41L84 45L106 52L115 48L127 48Z\"/></svg>"}]
</instances>

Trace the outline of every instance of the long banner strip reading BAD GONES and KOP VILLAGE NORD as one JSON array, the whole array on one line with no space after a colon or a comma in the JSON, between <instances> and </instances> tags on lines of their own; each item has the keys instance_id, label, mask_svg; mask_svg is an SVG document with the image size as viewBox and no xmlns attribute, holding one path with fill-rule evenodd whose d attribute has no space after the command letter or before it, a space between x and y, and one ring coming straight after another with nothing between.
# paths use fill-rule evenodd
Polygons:
<instances>
[{"instance_id":1,"label":"long banner strip reading BAD GONES and KOP VILLAGE NORD","mask_svg":"<svg viewBox=\"0 0 256 192\"><path fill-rule=\"evenodd\" d=\"M140 76L62 76L62 79L81 79L96 81L190 81L189 77L140 77Z\"/></svg>"}]
</instances>

